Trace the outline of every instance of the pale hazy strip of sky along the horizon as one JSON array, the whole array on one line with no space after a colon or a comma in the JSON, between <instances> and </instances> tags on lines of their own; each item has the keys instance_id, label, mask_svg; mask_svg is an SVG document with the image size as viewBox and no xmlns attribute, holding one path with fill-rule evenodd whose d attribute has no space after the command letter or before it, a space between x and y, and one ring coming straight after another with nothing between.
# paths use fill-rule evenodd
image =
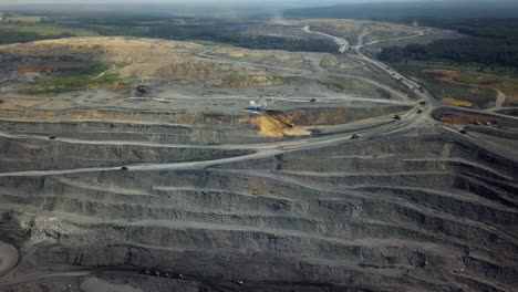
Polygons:
<instances>
[{"instance_id":1,"label":"pale hazy strip of sky along the horizon","mask_svg":"<svg viewBox=\"0 0 518 292\"><path fill-rule=\"evenodd\" d=\"M478 14L468 13L469 17L516 18L518 15L518 0L0 0L0 12L2 10L60 13L127 12L242 18L276 17L282 14L281 11L290 9L373 2L419 3L417 7L428 7L432 10L435 7L436 11L448 10L449 6L454 4L457 9L470 8L469 13L477 11ZM381 6L382 9L383 7Z\"/></svg>"}]
</instances>

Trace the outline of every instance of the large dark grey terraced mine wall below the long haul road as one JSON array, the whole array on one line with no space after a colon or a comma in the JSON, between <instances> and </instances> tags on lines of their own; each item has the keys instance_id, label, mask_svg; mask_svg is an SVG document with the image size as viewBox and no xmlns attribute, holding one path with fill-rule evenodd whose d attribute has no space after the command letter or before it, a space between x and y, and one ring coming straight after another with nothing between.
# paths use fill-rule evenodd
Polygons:
<instances>
[{"instance_id":1,"label":"large dark grey terraced mine wall below the long haul road","mask_svg":"<svg viewBox=\"0 0 518 292\"><path fill-rule=\"evenodd\" d=\"M41 239L12 236L25 264L156 267L207 291L236 277L253 291L510 291L517 163L414 134L206 169L1 177L17 206L3 218Z\"/></svg>"}]
</instances>

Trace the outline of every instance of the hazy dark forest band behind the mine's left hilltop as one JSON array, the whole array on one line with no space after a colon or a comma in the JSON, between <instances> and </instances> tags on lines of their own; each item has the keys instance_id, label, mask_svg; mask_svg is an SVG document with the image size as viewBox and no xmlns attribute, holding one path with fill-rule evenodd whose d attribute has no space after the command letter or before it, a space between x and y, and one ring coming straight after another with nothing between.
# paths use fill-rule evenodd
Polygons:
<instances>
[{"instance_id":1,"label":"hazy dark forest band behind the mine's left hilltop","mask_svg":"<svg viewBox=\"0 0 518 292\"><path fill-rule=\"evenodd\" d=\"M257 25L256 20L229 21L162 14L53 14L34 23L12 21L0 23L0 44L90 34L209 41L257 50L336 52L336 44L331 40L270 36L246 32L250 27ZM44 34L41 33L43 28L46 29ZM59 33L51 33L52 31Z\"/></svg>"}]
</instances>

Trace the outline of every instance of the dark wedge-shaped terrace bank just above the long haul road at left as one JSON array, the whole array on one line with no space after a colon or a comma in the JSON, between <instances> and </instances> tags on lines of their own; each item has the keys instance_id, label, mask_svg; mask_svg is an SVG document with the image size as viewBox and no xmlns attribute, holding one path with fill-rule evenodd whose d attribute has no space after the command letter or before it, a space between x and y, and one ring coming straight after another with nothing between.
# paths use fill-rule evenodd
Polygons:
<instances>
[{"instance_id":1,"label":"dark wedge-shaped terrace bank just above the long haul road at left","mask_svg":"<svg viewBox=\"0 0 518 292\"><path fill-rule=\"evenodd\" d=\"M138 145L87 145L59 142L29 140L1 142L3 155L19 160L3 161L0 170L70 169L82 167L111 167L136 163L179 163L214 160L250 154L247 150L219 150L187 147L145 147ZM54 157L66 159L54 159Z\"/></svg>"}]
</instances>

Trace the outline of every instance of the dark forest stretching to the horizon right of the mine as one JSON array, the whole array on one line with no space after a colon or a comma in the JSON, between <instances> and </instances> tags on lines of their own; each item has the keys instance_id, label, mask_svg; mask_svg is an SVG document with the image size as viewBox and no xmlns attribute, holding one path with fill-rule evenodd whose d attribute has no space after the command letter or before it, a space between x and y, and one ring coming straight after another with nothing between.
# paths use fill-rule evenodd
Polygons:
<instances>
[{"instance_id":1,"label":"dark forest stretching to the horizon right of the mine","mask_svg":"<svg viewBox=\"0 0 518 292\"><path fill-rule=\"evenodd\" d=\"M455 30L465 38L385 48L379 58L393 63L441 61L518 67L518 2L495 0L490 6L480 3L477 0L350 3L291 9L284 11L284 17L367 19L403 24L417 22L424 27Z\"/></svg>"}]
</instances>

